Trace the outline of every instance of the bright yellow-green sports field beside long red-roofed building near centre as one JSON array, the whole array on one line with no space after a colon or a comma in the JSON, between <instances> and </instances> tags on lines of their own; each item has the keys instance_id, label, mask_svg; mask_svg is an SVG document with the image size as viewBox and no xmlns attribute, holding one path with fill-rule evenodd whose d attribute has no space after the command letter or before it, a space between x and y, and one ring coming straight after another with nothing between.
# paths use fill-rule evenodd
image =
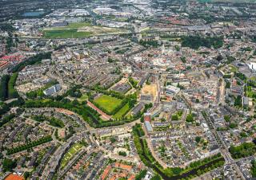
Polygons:
<instances>
[{"instance_id":1,"label":"bright yellow-green sports field beside long red-roofed building near centre","mask_svg":"<svg viewBox=\"0 0 256 180\"><path fill-rule=\"evenodd\" d=\"M112 96L102 95L94 100L94 102L100 105L102 108L106 109L106 111L112 112L122 103L122 100Z\"/></svg>"}]
</instances>

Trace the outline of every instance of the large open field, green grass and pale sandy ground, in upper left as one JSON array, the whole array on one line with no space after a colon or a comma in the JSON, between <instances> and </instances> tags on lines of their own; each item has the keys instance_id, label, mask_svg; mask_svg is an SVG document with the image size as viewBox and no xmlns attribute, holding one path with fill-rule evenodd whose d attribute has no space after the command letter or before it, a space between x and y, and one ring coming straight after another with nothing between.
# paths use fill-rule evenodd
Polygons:
<instances>
[{"instance_id":1,"label":"large open field, green grass and pale sandy ground, in upper left","mask_svg":"<svg viewBox=\"0 0 256 180\"><path fill-rule=\"evenodd\" d=\"M109 33L122 33L123 29L90 25L88 22L70 23L63 27L50 27L42 29L43 37L46 38L79 38Z\"/></svg>"}]
</instances>

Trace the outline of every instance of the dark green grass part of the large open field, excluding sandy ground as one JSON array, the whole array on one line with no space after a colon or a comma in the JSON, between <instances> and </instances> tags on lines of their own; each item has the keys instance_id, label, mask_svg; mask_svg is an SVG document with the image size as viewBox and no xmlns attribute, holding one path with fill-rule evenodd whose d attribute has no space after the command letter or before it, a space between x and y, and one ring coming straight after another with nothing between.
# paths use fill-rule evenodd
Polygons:
<instances>
[{"instance_id":1,"label":"dark green grass part of the large open field, excluding sandy ground","mask_svg":"<svg viewBox=\"0 0 256 180\"><path fill-rule=\"evenodd\" d=\"M44 30L44 37L46 38L78 38L90 37L90 32L78 32L78 29L50 29Z\"/></svg>"}]
</instances>

